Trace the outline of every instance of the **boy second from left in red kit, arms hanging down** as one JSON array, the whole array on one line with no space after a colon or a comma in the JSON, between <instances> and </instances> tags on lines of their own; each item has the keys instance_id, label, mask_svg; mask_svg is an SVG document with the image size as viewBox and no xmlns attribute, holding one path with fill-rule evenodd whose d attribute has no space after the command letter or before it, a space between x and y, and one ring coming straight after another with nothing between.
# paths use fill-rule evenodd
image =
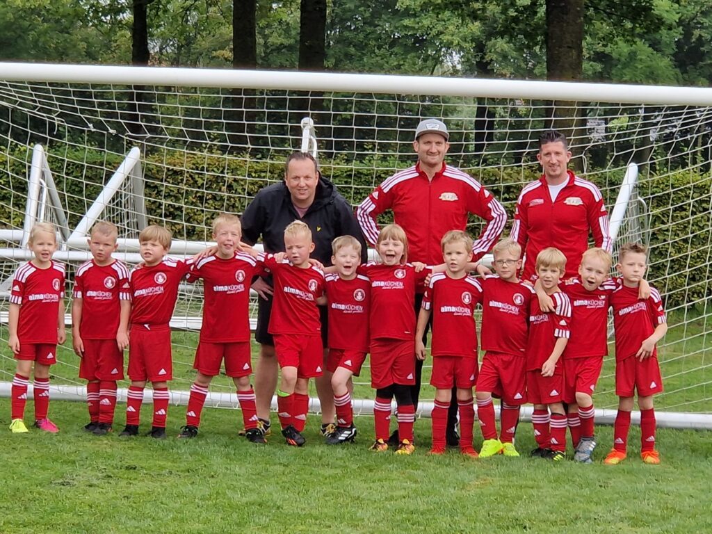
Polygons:
<instances>
[{"instance_id":1,"label":"boy second from left in red kit, arms hanging down","mask_svg":"<svg viewBox=\"0 0 712 534\"><path fill-rule=\"evenodd\" d=\"M123 350L129 344L129 271L111 257L117 236L115 224L98 221L87 240L93 259L74 277L72 342L81 358L79 377L88 380L90 421L84 429L97 436L111 431L116 381L124 379Z\"/></svg>"}]
</instances>

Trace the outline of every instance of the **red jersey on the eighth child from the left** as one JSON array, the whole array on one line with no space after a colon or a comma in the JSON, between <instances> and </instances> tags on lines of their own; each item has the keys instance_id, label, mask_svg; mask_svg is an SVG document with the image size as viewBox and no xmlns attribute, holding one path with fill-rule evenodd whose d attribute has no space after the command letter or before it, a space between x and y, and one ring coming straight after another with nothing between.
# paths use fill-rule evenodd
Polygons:
<instances>
[{"instance_id":1,"label":"red jersey on the eighth child from the left","mask_svg":"<svg viewBox=\"0 0 712 534\"><path fill-rule=\"evenodd\" d=\"M431 354L477 358L475 307L482 287L470 276L450 278L446 273L430 277L423 295L423 309L431 310Z\"/></svg>"}]
</instances>

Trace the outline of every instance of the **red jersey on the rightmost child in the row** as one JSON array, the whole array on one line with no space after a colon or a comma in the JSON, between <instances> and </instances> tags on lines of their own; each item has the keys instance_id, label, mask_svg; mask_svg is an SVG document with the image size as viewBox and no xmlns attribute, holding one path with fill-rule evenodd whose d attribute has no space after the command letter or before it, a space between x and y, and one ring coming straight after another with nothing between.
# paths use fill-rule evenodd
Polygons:
<instances>
[{"instance_id":1,"label":"red jersey on the rightmost child in the row","mask_svg":"<svg viewBox=\"0 0 712 534\"><path fill-rule=\"evenodd\" d=\"M639 300L638 288L620 285L611 295L613 326L616 330L616 361L637 354L640 345L655 331L657 325L667 323L663 300L655 288L650 288L647 300ZM653 349L652 357L658 354Z\"/></svg>"}]
</instances>

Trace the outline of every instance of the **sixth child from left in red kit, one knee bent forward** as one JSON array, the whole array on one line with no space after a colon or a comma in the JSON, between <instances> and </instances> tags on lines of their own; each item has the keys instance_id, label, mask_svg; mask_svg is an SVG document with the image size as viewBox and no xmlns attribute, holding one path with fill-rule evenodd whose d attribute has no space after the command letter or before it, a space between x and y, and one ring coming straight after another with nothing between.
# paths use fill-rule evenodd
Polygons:
<instances>
[{"instance_id":1,"label":"sixth child from left in red kit, one knee bent forward","mask_svg":"<svg viewBox=\"0 0 712 534\"><path fill-rule=\"evenodd\" d=\"M357 273L361 263L361 244L353 236L341 236L332 244L336 273L326 276L329 313L329 355L326 370L331 375L336 407L336 430L326 443L340 445L354 441L351 377L358 376L368 352L368 318L371 283Z\"/></svg>"}]
</instances>

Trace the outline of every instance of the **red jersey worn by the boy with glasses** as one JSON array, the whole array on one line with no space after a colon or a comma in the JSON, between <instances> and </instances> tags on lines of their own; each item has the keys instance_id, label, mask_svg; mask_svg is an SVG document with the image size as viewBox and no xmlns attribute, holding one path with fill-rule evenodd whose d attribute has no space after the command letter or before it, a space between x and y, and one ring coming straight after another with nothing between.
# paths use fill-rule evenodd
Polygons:
<instances>
[{"instance_id":1,"label":"red jersey worn by the boy with glasses","mask_svg":"<svg viewBox=\"0 0 712 534\"><path fill-rule=\"evenodd\" d=\"M523 282L503 281L499 276L486 276L480 281L480 286L481 349L524 356L529 306L531 300L536 298L533 288Z\"/></svg>"}]
</instances>

